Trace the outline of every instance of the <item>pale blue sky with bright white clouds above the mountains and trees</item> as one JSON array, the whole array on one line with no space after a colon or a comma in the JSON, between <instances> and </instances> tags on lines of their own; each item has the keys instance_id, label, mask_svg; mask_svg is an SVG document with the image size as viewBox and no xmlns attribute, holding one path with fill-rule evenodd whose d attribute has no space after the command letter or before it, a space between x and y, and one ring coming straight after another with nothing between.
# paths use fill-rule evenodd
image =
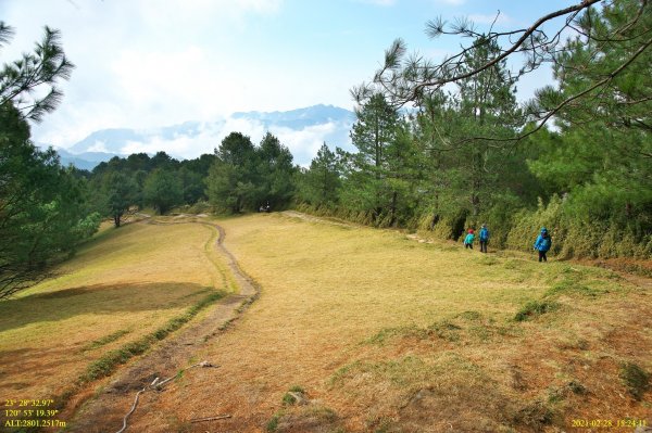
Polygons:
<instances>
[{"instance_id":1,"label":"pale blue sky with bright white clouds above the mountains and trees","mask_svg":"<svg viewBox=\"0 0 652 433\"><path fill-rule=\"evenodd\" d=\"M425 23L468 16L478 28L523 28L575 4L479 0L0 0L15 28L0 62L32 50L49 25L76 64L36 141L72 145L93 130L210 122L238 111L318 103L352 110L397 37L434 60L463 41L429 40ZM522 82L521 99L550 80Z\"/></svg>"}]
</instances>

